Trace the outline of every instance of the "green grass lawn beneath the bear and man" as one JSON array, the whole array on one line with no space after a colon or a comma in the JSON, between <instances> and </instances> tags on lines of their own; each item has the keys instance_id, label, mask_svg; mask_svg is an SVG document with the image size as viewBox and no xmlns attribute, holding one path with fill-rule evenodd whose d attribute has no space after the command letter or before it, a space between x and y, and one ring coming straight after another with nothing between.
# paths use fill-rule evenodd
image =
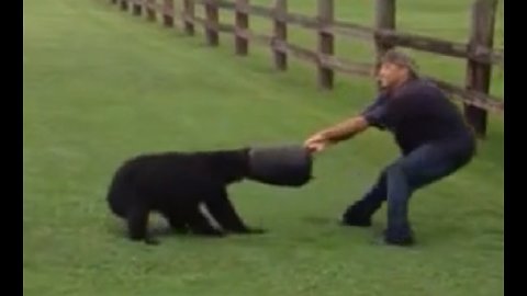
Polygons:
<instances>
[{"instance_id":1,"label":"green grass lawn beneath the bear and man","mask_svg":"<svg viewBox=\"0 0 527 296\"><path fill-rule=\"evenodd\" d=\"M415 248L378 243L384 208L371 229L336 225L397 155L379 132L321 155L316 180L303 189L232 186L237 209L269 229L265 236L128 242L104 202L125 158L301 141L358 112L374 89L338 76L336 89L322 92L312 66L292 59L279 73L266 48L238 58L232 37L208 48L202 35L148 24L108 2L24 1L25 295L503 295L502 116L490 118L489 140L467 169L415 194ZM371 1L336 2L339 16L370 22ZM436 2L400 1L401 26L462 41L468 1ZM310 13L315 1L290 7ZM464 75L456 68L462 62L427 65L437 76Z\"/></svg>"}]
</instances>

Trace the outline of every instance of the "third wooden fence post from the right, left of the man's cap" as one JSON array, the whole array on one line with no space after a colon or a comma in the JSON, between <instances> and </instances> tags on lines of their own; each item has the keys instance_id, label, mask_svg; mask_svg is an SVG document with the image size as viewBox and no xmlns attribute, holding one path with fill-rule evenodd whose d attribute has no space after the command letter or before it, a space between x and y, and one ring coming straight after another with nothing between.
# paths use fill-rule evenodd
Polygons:
<instances>
[{"instance_id":1,"label":"third wooden fence post from the right, left of the man's cap","mask_svg":"<svg viewBox=\"0 0 527 296\"><path fill-rule=\"evenodd\" d=\"M326 56L334 54L334 36L333 33L324 32L324 26L333 24L334 21L334 1L318 0L318 53ZM332 89L334 81L334 71L323 62L324 59L318 60L318 86L323 89Z\"/></svg>"}]
</instances>

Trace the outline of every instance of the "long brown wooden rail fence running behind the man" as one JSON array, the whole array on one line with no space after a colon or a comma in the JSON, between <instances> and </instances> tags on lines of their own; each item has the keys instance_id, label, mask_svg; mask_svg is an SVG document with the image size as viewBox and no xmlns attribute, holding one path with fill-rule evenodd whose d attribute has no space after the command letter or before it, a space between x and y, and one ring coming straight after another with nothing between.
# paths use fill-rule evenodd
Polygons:
<instances>
[{"instance_id":1,"label":"long brown wooden rail fence running behind the man","mask_svg":"<svg viewBox=\"0 0 527 296\"><path fill-rule=\"evenodd\" d=\"M317 66L317 81L323 89L332 89L334 72L371 76L379 57L392 47L406 47L452 58L467 60L464 86L456 86L433 77L427 77L438 87L461 100L468 122L480 137L486 133L487 112L503 114L503 99L489 94L492 67L503 67L504 53L493 48L493 34L497 0L474 0L472 25L468 43L456 43L417 34L395 31L395 0L375 0L375 26L368 27L334 18L334 0L317 0L317 15L310 16L288 10L287 0L274 0L271 8L250 4L249 0L111 0L121 10L131 10L134 15L145 13L147 20L160 21L167 27L179 26L187 34L194 35L195 26L204 29L209 46L217 46L220 33L234 34L235 53L248 54L249 42L269 46L273 53L274 67L287 70L289 55ZM195 15L195 7L204 8L205 18ZM218 21L218 10L229 10L235 14L234 25ZM257 34L249 29L249 15L270 19L273 22L271 35ZM177 25L175 19L178 19ZM288 42L288 25L316 31L318 48L303 48ZM373 41L377 61L358 64L334 55L335 37L362 38Z\"/></svg>"}]
</instances>

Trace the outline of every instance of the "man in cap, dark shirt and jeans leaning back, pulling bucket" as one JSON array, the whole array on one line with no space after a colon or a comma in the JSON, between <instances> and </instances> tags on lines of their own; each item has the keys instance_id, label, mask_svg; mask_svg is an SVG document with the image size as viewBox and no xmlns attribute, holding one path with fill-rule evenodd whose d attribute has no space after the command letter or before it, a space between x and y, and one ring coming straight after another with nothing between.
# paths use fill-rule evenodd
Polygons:
<instances>
[{"instance_id":1,"label":"man in cap, dark shirt and jeans leaning back, pulling bucket","mask_svg":"<svg viewBox=\"0 0 527 296\"><path fill-rule=\"evenodd\" d=\"M382 92L360 115L311 136L304 146L312 152L349 139L370 126L393 133L402 156L388 166L366 195L343 215L347 226L367 227L388 202L384 241L408 246L414 236L408 223L413 192L447 177L472 158L475 139L458 109L433 84L417 76L414 61L390 50L378 71Z\"/></svg>"}]
</instances>

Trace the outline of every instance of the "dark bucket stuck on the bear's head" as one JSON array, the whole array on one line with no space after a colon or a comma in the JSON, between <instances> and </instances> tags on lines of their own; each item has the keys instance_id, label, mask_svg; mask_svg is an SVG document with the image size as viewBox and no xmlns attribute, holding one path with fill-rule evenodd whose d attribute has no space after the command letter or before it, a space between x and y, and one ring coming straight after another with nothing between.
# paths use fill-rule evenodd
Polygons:
<instances>
[{"instance_id":1,"label":"dark bucket stuck on the bear's head","mask_svg":"<svg viewBox=\"0 0 527 296\"><path fill-rule=\"evenodd\" d=\"M312 179L313 158L302 145L249 149L248 178L281 186L302 186Z\"/></svg>"}]
</instances>

